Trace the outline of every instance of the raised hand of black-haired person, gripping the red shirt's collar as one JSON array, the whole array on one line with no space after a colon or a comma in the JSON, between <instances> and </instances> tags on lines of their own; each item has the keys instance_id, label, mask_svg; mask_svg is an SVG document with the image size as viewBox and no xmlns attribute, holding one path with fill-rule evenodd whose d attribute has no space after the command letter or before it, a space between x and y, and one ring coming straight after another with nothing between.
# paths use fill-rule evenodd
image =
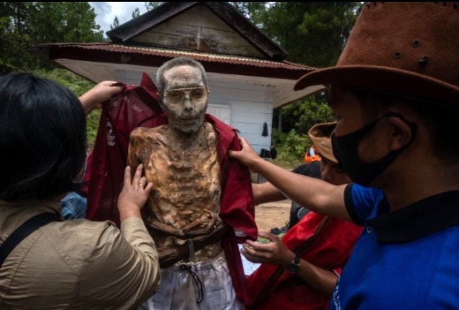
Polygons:
<instances>
[{"instance_id":1,"label":"raised hand of black-haired person, gripping the red shirt's collar","mask_svg":"<svg viewBox=\"0 0 459 310\"><path fill-rule=\"evenodd\" d=\"M79 97L86 115L96 108L102 108L102 103L118 94L122 90L122 83L116 81L102 81Z\"/></svg>"}]
</instances>

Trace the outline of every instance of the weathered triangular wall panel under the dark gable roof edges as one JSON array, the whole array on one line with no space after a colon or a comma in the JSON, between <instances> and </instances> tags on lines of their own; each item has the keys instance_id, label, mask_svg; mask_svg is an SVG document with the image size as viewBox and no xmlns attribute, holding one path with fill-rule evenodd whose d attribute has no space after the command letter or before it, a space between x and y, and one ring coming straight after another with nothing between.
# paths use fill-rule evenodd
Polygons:
<instances>
[{"instance_id":1,"label":"weathered triangular wall panel under the dark gable roof edges","mask_svg":"<svg viewBox=\"0 0 459 310\"><path fill-rule=\"evenodd\" d=\"M129 42L168 49L265 58L250 42L207 6L202 5L193 6L166 22L135 35Z\"/></svg>"}]
</instances>

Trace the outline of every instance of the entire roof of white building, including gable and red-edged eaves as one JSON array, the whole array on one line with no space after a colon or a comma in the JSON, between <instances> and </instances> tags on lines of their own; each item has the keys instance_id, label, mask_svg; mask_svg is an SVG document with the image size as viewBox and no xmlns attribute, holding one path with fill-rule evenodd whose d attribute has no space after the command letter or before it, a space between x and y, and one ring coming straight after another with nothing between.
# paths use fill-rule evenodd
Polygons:
<instances>
[{"instance_id":1,"label":"entire roof of white building, including gable and red-edged eaves","mask_svg":"<svg viewBox=\"0 0 459 310\"><path fill-rule=\"evenodd\" d=\"M111 42L37 44L35 52L90 81L122 80L120 72L154 74L177 56L193 58L214 82L271 89L273 107L321 90L293 91L312 67L288 53L227 2L164 2L106 33Z\"/></svg>"}]
</instances>

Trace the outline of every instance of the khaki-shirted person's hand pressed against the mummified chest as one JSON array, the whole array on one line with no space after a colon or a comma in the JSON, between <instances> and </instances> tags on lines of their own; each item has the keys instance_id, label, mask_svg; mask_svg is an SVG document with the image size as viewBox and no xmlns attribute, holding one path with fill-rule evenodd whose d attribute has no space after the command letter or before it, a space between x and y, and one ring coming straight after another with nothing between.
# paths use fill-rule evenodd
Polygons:
<instances>
[{"instance_id":1,"label":"khaki-shirted person's hand pressed against the mummified chest","mask_svg":"<svg viewBox=\"0 0 459 310\"><path fill-rule=\"evenodd\" d=\"M120 211L120 222L126 218L141 218L140 209L147 202L153 183L147 183L142 177L143 165L138 165L134 177L131 179L131 167L124 170L124 184L118 196L118 211Z\"/></svg>"}]
</instances>

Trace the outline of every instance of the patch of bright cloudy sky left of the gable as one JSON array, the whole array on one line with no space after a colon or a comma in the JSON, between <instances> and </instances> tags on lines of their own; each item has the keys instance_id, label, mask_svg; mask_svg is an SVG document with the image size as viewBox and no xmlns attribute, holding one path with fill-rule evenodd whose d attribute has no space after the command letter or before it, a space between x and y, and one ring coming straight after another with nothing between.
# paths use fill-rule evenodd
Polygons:
<instances>
[{"instance_id":1,"label":"patch of bright cloudy sky left of the gable","mask_svg":"<svg viewBox=\"0 0 459 310\"><path fill-rule=\"evenodd\" d=\"M115 16L118 17L120 24L124 24L132 19L132 12L136 8L140 10L140 15L147 12L145 2L90 2L89 4L94 8L95 22L104 31L104 36L110 30L110 25L113 24Z\"/></svg>"}]
</instances>

